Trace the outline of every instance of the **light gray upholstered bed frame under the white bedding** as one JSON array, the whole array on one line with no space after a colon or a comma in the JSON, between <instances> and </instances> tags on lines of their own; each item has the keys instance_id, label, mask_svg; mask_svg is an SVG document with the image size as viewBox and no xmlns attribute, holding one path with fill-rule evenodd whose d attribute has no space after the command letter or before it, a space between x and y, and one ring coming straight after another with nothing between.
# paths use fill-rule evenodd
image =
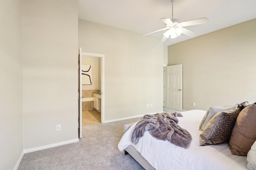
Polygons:
<instances>
[{"instance_id":1,"label":"light gray upholstered bed frame under the white bedding","mask_svg":"<svg viewBox=\"0 0 256 170\"><path fill-rule=\"evenodd\" d=\"M124 125L124 132L126 132L132 125L133 125L133 123ZM134 158L144 169L156 170L155 168L153 168L153 166L150 165L150 163L148 163L148 161L144 157L141 156L140 152L138 152L136 149L134 149L134 147L132 145L129 145L124 150L124 154L125 155L130 154L132 156L132 158Z\"/></svg>"}]
</instances>

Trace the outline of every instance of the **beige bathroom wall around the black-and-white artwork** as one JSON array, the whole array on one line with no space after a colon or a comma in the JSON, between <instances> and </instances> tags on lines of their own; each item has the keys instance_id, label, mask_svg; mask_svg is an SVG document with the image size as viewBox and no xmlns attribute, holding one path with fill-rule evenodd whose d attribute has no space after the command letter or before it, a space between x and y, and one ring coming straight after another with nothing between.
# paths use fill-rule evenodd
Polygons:
<instances>
[{"instance_id":1,"label":"beige bathroom wall around the black-and-white artwork","mask_svg":"<svg viewBox=\"0 0 256 170\"><path fill-rule=\"evenodd\" d=\"M92 66L92 84L83 84L82 90L100 90L99 59L99 57L82 56L82 64Z\"/></svg>"}]
</instances>

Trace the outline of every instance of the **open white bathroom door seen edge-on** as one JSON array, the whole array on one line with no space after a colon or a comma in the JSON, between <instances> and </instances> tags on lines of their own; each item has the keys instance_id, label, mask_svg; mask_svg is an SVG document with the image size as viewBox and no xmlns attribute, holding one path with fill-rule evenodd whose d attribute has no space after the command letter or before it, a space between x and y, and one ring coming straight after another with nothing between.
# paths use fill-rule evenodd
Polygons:
<instances>
[{"instance_id":1,"label":"open white bathroom door seen edge-on","mask_svg":"<svg viewBox=\"0 0 256 170\"><path fill-rule=\"evenodd\" d=\"M78 51L78 137L82 138L82 48Z\"/></svg>"}]
</instances>

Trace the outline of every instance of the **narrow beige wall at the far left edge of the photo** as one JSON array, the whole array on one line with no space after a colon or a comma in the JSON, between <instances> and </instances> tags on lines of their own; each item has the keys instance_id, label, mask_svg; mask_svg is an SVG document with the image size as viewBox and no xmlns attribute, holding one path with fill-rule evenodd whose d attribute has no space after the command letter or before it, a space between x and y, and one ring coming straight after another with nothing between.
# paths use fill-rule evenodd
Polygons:
<instances>
[{"instance_id":1,"label":"narrow beige wall at the far left edge of the photo","mask_svg":"<svg viewBox=\"0 0 256 170\"><path fill-rule=\"evenodd\" d=\"M0 4L0 169L11 170L23 150L22 0Z\"/></svg>"}]
</instances>

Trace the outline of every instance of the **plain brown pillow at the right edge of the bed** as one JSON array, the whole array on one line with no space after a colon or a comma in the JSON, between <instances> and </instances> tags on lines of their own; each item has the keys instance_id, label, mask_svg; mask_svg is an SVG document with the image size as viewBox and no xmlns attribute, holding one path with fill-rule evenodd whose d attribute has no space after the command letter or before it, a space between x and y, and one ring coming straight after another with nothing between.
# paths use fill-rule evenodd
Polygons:
<instances>
[{"instance_id":1,"label":"plain brown pillow at the right edge of the bed","mask_svg":"<svg viewBox=\"0 0 256 170\"><path fill-rule=\"evenodd\" d=\"M232 130L229 145L232 154L246 156L256 141L256 105L246 106L239 113Z\"/></svg>"}]
</instances>

